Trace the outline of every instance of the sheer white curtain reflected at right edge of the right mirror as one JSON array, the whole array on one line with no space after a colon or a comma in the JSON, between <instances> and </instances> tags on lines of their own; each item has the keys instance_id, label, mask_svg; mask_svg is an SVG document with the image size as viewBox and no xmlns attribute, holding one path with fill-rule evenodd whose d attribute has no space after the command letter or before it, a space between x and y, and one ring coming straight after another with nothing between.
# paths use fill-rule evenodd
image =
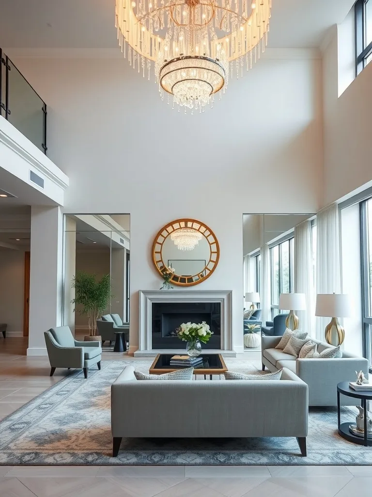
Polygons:
<instances>
[{"instance_id":1,"label":"sheer white curtain reflected at right edge of the right mirror","mask_svg":"<svg viewBox=\"0 0 372 497\"><path fill-rule=\"evenodd\" d=\"M295 293L305 293L306 311L298 311L300 329L315 337L314 275L312 268L311 223L295 227L294 286Z\"/></svg>"}]
</instances>

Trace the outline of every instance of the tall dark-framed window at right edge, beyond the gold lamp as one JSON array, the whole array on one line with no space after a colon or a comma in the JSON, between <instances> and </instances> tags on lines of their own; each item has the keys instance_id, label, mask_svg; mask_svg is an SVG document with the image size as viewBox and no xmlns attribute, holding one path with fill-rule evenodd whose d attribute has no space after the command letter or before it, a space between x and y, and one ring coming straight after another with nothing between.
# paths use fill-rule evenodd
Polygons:
<instances>
[{"instance_id":1,"label":"tall dark-framed window at right edge, beyond the gold lamp","mask_svg":"<svg viewBox=\"0 0 372 497\"><path fill-rule=\"evenodd\" d=\"M364 355L372 366L372 198L360 205L363 344Z\"/></svg>"}]
</instances>

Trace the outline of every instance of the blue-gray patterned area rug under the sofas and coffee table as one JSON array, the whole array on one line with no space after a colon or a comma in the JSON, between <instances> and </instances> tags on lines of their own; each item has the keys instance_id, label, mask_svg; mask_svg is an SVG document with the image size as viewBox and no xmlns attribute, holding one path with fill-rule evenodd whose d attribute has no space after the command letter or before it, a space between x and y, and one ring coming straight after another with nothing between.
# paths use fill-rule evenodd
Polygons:
<instances>
[{"instance_id":1,"label":"blue-gray patterned area rug under the sofas and coffee table","mask_svg":"<svg viewBox=\"0 0 372 497\"><path fill-rule=\"evenodd\" d=\"M226 363L232 371L258 372L247 361ZM337 434L334 408L310 409L306 458L299 455L295 438L127 438L113 458L110 387L128 364L148 372L151 361L102 362L102 370L89 371L88 380L72 372L1 421L0 464L372 464L371 448ZM357 411L345 407L343 414L353 419Z\"/></svg>"}]
</instances>

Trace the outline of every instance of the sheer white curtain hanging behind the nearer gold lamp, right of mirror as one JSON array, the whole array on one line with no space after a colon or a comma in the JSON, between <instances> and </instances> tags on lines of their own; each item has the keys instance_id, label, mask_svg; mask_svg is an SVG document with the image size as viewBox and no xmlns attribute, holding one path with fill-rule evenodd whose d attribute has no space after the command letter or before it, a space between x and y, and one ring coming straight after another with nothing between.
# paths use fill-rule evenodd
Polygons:
<instances>
[{"instance_id":1,"label":"sheer white curtain hanging behind the nearer gold lamp, right of mirror","mask_svg":"<svg viewBox=\"0 0 372 497\"><path fill-rule=\"evenodd\" d=\"M340 293L338 205L316 214L316 293ZM329 318L316 318L316 338L324 341Z\"/></svg>"}]
</instances>

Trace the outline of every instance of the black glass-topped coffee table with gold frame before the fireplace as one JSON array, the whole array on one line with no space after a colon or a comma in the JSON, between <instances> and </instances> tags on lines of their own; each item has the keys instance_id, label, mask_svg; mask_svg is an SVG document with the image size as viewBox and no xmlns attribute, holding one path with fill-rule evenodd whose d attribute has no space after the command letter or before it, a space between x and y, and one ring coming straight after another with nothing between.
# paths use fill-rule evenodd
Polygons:
<instances>
[{"instance_id":1,"label":"black glass-topped coffee table with gold frame before the fireplace","mask_svg":"<svg viewBox=\"0 0 372 497\"><path fill-rule=\"evenodd\" d=\"M158 354L155 357L154 362L151 364L149 373L150 374L164 374L171 373L172 371L177 371L178 369L187 368L189 366L171 366L170 360L175 354ZM212 379L214 374L224 374L228 371L225 361L221 354L200 354L199 357L203 358L203 363L194 367L195 375L204 375L204 379L209 375L209 379Z\"/></svg>"}]
</instances>

